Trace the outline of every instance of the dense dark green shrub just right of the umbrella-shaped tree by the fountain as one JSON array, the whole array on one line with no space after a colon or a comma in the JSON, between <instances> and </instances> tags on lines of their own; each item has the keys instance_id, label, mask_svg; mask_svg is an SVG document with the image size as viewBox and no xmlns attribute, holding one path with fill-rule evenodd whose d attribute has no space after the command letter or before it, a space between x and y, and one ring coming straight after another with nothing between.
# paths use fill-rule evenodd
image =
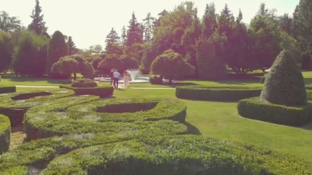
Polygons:
<instances>
[{"instance_id":1,"label":"dense dark green shrub just right of the umbrella-shaped tree by the fountain","mask_svg":"<svg viewBox=\"0 0 312 175\"><path fill-rule=\"evenodd\" d=\"M197 52L197 73L201 79L221 79L226 76L222 59L218 58L211 39L200 39L195 46Z\"/></svg>"}]
</instances>

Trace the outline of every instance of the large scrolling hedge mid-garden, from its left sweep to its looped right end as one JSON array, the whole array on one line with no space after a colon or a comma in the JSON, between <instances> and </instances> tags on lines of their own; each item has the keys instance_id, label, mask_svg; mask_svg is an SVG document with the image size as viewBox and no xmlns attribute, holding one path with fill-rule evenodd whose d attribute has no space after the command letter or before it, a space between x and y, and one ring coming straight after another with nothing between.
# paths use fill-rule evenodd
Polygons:
<instances>
[{"instance_id":1,"label":"large scrolling hedge mid-garden, from its left sweep to its looped right end","mask_svg":"<svg viewBox=\"0 0 312 175\"><path fill-rule=\"evenodd\" d=\"M62 99L66 103L57 101L49 107L37 106L31 108L24 118L25 132L28 140L61 136L69 134L109 132L115 127L130 128L136 123L133 121L155 121L171 119L185 122L186 106L183 102L174 99L116 99L98 100L84 104L83 97ZM120 104L118 104L120 102ZM79 105L82 104L82 105ZM132 104L132 105L131 105ZM136 113L97 113L96 111L111 111L116 105L143 108L155 107L146 112ZM58 105L58 106L57 106ZM74 106L78 105L78 106ZM144 106L145 105L145 106ZM72 107L73 106L73 107ZM128 106L129 108L129 106ZM138 109L137 108L137 109ZM119 108L122 109L122 108ZM112 111L111 111L112 112ZM122 111L121 111L122 112ZM139 122L140 125L149 125L152 122Z\"/></svg>"}]
</instances>

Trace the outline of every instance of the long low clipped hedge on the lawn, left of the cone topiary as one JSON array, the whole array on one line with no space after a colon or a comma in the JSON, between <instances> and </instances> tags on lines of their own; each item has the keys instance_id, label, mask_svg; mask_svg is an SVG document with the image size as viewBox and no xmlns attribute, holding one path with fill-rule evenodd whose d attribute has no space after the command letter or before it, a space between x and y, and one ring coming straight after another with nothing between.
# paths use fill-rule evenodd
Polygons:
<instances>
[{"instance_id":1,"label":"long low clipped hedge on the lawn, left of the cone topiary","mask_svg":"<svg viewBox=\"0 0 312 175\"><path fill-rule=\"evenodd\" d=\"M243 86L179 86L175 90L177 98L189 100L238 101L244 98L260 96L262 88L246 88Z\"/></svg>"}]
</instances>

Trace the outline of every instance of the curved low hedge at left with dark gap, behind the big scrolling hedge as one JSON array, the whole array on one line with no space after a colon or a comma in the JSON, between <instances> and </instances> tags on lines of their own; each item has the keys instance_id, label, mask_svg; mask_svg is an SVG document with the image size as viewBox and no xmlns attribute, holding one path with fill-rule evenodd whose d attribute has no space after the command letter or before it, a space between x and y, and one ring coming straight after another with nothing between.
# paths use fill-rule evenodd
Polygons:
<instances>
[{"instance_id":1,"label":"curved low hedge at left with dark gap, behind the big scrolling hedge","mask_svg":"<svg viewBox=\"0 0 312 175\"><path fill-rule=\"evenodd\" d=\"M74 95L74 92L71 90L61 89L61 90L52 90L51 92L52 95L49 96L37 96L38 95L37 91L21 93L23 96L30 97L29 99L25 100L12 100L11 95L15 95L15 93L1 94L0 114L8 116L13 126L21 125L23 122L24 114L30 107L41 105L42 103L45 103L48 100L60 99Z\"/></svg>"}]
</instances>

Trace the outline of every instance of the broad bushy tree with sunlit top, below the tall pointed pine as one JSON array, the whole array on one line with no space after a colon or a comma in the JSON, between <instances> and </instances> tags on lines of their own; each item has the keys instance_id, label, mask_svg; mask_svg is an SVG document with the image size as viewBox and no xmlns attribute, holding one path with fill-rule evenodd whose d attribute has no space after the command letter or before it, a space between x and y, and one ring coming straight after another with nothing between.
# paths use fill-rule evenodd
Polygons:
<instances>
[{"instance_id":1,"label":"broad bushy tree with sunlit top, below the tall pointed pine","mask_svg":"<svg viewBox=\"0 0 312 175\"><path fill-rule=\"evenodd\" d=\"M41 76L46 73L48 39L23 31L14 52L13 70L16 75Z\"/></svg>"}]
</instances>

